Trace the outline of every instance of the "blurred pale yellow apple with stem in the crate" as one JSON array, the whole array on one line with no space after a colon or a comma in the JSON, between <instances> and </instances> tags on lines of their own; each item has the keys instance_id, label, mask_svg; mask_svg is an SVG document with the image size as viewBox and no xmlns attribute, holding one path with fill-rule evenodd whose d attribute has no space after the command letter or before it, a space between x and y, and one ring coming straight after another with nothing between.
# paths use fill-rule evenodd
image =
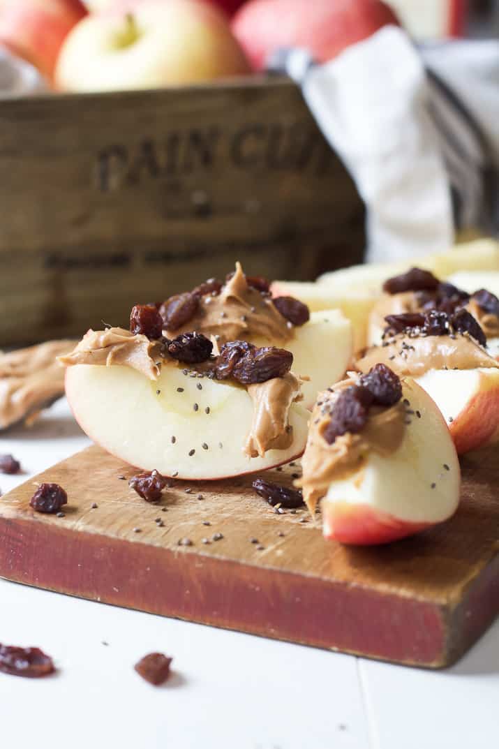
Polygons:
<instances>
[{"instance_id":1,"label":"blurred pale yellow apple with stem in the crate","mask_svg":"<svg viewBox=\"0 0 499 749\"><path fill-rule=\"evenodd\" d=\"M184 85L249 73L224 13L204 0L143 0L95 13L64 42L61 91Z\"/></svg>"}]
</instances>

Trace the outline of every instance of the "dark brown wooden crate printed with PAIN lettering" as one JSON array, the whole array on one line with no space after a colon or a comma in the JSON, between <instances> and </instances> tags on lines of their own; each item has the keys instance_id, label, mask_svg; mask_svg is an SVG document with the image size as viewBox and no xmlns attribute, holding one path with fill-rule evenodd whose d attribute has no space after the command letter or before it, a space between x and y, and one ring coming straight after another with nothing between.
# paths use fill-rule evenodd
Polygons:
<instances>
[{"instance_id":1,"label":"dark brown wooden crate printed with PAIN lettering","mask_svg":"<svg viewBox=\"0 0 499 749\"><path fill-rule=\"evenodd\" d=\"M363 205L288 79L0 106L0 345L122 324L240 258L359 261Z\"/></svg>"}]
</instances>

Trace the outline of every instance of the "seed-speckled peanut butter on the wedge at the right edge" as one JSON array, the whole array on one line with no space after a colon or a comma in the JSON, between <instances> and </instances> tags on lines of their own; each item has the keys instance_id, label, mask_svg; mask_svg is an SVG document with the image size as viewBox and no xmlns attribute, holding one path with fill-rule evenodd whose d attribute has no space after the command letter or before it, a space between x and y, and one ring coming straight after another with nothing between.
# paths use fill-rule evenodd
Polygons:
<instances>
[{"instance_id":1,"label":"seed-speckled peanut butter on the wedge at the right edge","mask_svg":"<svg viewBox=\"0 0 499 749\"><path fill-rule=\"evenodd\" d=\"M417 336L405 333L371 346L355 363L359 372L369 372L375 364L386 364L401 377L421 377L430 369L476 369L499 367L499 363L466 333L453 336Z\"/></svg>"}]
</instances>

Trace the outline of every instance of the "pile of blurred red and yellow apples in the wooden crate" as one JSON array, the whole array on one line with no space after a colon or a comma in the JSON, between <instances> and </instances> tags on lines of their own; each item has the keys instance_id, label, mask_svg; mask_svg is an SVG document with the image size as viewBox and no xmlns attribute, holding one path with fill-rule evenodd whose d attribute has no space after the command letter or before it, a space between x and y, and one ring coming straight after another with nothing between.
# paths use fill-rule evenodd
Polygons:
<instances>
[{"instance_id":1,"label":"pile of blurred red and yellow apples in the wooden crate","mask_svg":"<svg viewBox=\"0 0 499 749\"><path fill-rule=\"evenodd\" d=\"M283 46L326 61L390 23L381 0L0 0L0 44L59 91L246 75Z\"/></svg>"}]
</instances>

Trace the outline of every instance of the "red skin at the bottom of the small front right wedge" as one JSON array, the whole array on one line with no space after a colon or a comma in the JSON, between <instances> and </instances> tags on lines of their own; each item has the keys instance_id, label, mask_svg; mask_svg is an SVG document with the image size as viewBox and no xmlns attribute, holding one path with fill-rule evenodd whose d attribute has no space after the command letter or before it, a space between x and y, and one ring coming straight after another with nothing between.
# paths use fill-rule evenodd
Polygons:
<instances>
[{"instance_id":1,"label":"red skin at the bottom of the small front right wedge","mask_svg":"<svg viewBox=\"0 0 499 749\"><path fill-rule=\"evenodd\" d=\"M325 539L342 544L370 546L414 536L432 523L411 523L399 520L370 505L347 502L322 503L322 533Z\"/></svg>"}]
</instances>

